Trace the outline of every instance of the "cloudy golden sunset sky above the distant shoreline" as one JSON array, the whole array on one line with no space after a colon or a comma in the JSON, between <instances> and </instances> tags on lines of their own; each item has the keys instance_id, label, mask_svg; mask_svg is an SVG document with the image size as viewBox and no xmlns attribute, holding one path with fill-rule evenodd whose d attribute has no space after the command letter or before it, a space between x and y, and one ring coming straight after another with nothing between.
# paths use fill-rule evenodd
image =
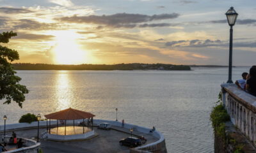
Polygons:
<instances>
[{"instance_id":1,"label":"cloudy golden sunset sky above the distant shoreline","mask_svg":"<svg viewBox=\"0 0 256 153\"><path fill-rule=\"evenodd\" d=\"M0 0L0 30L16 62L49 64L228 64L234 6L233 62L255 65L255 0ZM3 45L3 44L1 44Z\"/></svg>"}]
</instances>

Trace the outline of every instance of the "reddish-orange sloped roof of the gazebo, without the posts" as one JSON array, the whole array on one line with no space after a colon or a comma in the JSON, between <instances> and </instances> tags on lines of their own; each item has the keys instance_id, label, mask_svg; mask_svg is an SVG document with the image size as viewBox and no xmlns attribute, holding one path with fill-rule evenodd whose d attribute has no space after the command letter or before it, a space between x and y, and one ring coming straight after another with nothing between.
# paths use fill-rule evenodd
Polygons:
<instances>
[{"instance_id":1,"label":"reddish-orange sloped roof of the gazebo, without the posts","mask_svg":"<svg viewBox=\"0 0 256 153\"><path fill-rule=\"evenodd\" d=\"M73 108L68 108L66 110L61 110L60 112L49 113L44 115L46 119L56 119L56 120L77 120L77 119L88 119L95 117L92 113L83 112L81 110L76 110Z\"/></svg>"}]
</instances>

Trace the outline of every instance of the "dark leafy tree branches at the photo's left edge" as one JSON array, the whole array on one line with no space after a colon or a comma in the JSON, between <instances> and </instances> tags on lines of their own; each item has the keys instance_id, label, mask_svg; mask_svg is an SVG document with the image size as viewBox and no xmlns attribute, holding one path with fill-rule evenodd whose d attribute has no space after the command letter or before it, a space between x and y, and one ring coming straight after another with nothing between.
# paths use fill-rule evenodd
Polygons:
<instances>
[{"instance_id":1,"label":"dark leafy tree branches at the photo's left edge","mask_svg":"<svg viewBox=\"0 0 256 153\"><path fill-rule=\"evenodd\" d=\"M10 31L0 34L0 43L8 43L12 36L17 36L17 33ZM15 76L16 72L10 63L18 59L19 54L16 50L0 45L0 100L5 99L4 104L16 101L22 108L24 94L28 94L28 89L25 85L18 84L21 78Z\"/></svg>"}]
</instances>

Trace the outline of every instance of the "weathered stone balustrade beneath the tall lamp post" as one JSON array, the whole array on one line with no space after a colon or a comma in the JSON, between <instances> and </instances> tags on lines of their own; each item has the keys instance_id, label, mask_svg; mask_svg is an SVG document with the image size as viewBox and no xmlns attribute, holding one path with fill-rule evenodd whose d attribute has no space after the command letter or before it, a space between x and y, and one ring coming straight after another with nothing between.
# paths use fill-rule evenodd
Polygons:
<instances>
[{"instance_id":1,"label":"weathered stone balustrade beneath the tall lamp post","mask_svg":"<svg viewBox=\"0 0 256 153\"><path fill-rule=\"evenodd\" d=\"M230 120L256 145L256 97L235 84L221 84L222 101Z\"/></svg>"}]
</instances>

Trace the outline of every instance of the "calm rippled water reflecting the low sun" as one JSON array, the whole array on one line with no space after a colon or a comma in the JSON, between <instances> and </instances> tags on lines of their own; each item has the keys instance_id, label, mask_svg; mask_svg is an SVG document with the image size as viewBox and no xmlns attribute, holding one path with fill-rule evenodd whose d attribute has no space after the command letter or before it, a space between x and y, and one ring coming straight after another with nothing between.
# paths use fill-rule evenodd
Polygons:
<instances>
[{"instance_id":1,"label":"calm rippled water reflecting the low sun","mask_svg":"<svg viewBox=\"0 0 256 153\"><path fill-rule=\"evenodd\" d=\"M249 68L234 68L233 81ZM29 94L23 108L0 104L7 123L25 113L52 113L65 108L92 112L97 119L152 128L166 138L168 152L214 152L209 114L227 68L194 71L17 71Z\"/></svg>"}]
</instances>

